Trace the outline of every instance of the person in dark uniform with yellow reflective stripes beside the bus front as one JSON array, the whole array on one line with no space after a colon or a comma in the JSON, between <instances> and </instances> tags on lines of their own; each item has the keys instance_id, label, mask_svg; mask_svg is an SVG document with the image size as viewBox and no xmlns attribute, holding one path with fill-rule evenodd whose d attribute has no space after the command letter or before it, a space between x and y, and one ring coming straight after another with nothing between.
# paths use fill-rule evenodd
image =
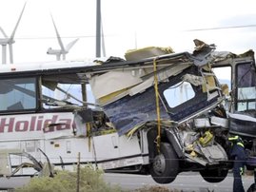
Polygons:
<instances>
[{"instance_id":1,"label":"person in dark uniform with yellow reflective stripes beside the bus front","mask_svg":"<svg viewBox=\"0 0 256 192\"><path fill-rule=\"evenodd\" d=\"M231 144L230 158L233 160L233 192L245 192L242 175L246 165L246 150L241 137L235 135L228 137Z\"/></svg>"}]
</instances>

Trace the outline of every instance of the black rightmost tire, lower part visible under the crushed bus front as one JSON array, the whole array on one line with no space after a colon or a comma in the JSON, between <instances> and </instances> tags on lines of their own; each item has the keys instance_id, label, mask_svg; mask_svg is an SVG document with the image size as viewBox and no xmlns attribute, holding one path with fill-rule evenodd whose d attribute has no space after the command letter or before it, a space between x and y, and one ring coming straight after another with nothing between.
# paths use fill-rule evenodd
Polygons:
<instances>
[{"instance_id":1,"label":"black rightmost tire, lower part visible under the crushed bus front","mask_svg":"<svg viewBox=\"0 0 256 192\"><path fill-rule=\"evenodd\" d=\"M206 182L222 182L226 179L228 169L204 169L200 171L201 176Z\"/></svg>"}]
</instances>

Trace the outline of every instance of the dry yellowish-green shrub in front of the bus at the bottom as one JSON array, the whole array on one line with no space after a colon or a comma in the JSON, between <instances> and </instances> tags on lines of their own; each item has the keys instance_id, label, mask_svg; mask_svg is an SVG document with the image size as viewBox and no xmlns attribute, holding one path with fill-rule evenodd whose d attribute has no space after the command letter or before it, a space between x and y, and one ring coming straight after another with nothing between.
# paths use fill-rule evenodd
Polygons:
<instances>
[{"instance_id":1,"label":"dry yellowish-green shrub in front of the bus at the bottom","mask_svg":"<svg viewBox=\"0 0 256 192\"><path fill-rule=\"evenodd\" d=\"M111 186L104 182L102 170L92 166L80 169L80 192L120 192L119 186ZM54 178L32 178L28 185L15 189L15 192L76 192L77 173L58 171Z\"/></svg>"}]
</instances>

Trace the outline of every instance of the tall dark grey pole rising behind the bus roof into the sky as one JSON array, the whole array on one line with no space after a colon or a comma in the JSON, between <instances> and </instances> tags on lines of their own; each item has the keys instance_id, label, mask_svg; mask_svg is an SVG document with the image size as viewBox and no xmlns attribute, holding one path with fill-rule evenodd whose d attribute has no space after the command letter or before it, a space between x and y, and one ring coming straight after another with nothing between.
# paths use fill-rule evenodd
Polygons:
<instances>
[{"instance_id":1,"label":"tall dark grey pole rising behind the bus roof into the sky","mask_svg":"<svg viewBox=\"0 0 256 192\"><path fill-rule=\"evenodd\" d=\"M96 57L101 56L101 0L96 5Z\"/></svg>"}]
</instances>

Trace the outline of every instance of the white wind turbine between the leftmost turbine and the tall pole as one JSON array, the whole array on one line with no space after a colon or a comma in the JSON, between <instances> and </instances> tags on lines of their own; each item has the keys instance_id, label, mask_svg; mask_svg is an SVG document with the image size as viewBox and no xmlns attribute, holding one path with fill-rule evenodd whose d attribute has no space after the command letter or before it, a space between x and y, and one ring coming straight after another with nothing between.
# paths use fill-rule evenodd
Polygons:
<instances>
[{"instance_id":1,"label":"white wind turbine between the leftmost turbine and the tall pole","mask_svg":"<svg viewBox=\"0 0 256 192\"><path fill-rule=\"evenodd\" d=\"M59 61L61 59L61 55L62 55L62 59L65 60L66 59L66 54L69 53L69 49L72 48L73 45L78 41L78 38L73 40L73 41L71 41L66 46L66 48L64 48L62 40L61 40L61 37L60 37L60 34L59 34L58 29L57 29L57 27L56 27L56 25L54 23L53 17L52 17L52 15L50 15L50 16L51 16L51 20L52 20L52 23L53 23L53 26L54 26L54 29L55 29L55 32L56 32L56 36L57 36L57 39L58 39L58 43L59 43L61 49L49 48L47 53L48 54L52 54L52 55L56 55L57 61Z\"/></svg>"}]
</instances>

